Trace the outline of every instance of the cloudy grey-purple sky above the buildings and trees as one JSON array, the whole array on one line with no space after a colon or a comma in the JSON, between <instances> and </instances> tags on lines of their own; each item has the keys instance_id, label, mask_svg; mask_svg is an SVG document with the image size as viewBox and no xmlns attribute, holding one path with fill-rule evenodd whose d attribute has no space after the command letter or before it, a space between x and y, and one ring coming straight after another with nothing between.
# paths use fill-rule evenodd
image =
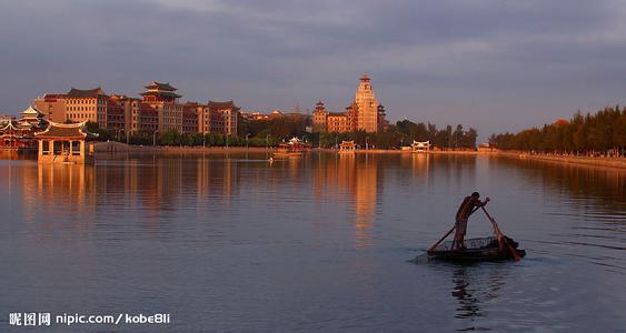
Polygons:
<instances>
[{"instance_id":1,"label":"cloudy grey-purple sky above the buildings and trees","mask_svg":"<svg viewBox=\"0 0 626 333\"><path fill-rule=\"evenodd\" d=\"M626 104L626 1L2 0L0 113L70 88L342 111L490 133Z\"/></svg>"}]
</instances>

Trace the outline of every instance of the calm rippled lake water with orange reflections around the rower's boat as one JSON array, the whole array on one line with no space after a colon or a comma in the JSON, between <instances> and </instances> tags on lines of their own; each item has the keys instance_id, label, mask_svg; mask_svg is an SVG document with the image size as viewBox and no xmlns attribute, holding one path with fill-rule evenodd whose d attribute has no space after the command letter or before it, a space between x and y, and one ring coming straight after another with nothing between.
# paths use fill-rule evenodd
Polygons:
<instances>
[{"instance_id":1,"label":"calm rippled lake water with orange reflections around the rower's boat","mask_svg":"<svg viewBox=\"0 0 626 333\"><path fill-rule=\"evenodd\" d=\"M626 332L624 171L488 157L265 159L0 161L0 331L21 311L171 313L167 327L70 327L81 332ZM527 258L408 263L475 190ZM469 232L487 235L489 222L477 212Z\"/></svg>"}]
</instances>

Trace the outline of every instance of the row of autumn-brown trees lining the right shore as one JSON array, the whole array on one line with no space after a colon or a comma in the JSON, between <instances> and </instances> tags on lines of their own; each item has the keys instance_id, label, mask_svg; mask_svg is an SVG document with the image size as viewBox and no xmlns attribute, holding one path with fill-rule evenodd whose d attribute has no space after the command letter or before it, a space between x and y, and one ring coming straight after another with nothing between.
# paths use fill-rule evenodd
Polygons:
<instances>
[{"instance_id":1,"label":"row of autumn-brown trees lining the right shore","mask_svg":"<svg viewBox=\"0 0 626 333\"><path fill-rule=\"evenodd\" d=\"M518 133L493 134L489 144L501 150L623 157L626 153L626 108L605 108L585 115L578 111L569 121Z\"/></svg>"}]
</instances>

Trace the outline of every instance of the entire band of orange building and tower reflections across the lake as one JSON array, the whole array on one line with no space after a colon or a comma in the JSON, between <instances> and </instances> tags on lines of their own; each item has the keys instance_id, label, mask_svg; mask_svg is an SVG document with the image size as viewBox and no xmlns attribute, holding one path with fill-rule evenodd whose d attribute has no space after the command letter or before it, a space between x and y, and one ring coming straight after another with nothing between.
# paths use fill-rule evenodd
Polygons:
<instances>
[{"instance_id":1,"label":"entire band of orange building and tower reflections across the lake","mask_svg":"<svg viewBox=\"0 0 626 333\"><path fill-rule=\"evenodd\" d=\"M399 160L400 174L410 172L411 179L417 180L413 185L433 188L428 182L435 172L434 158L410 153L324 153L274 163L260 155L262 162L252 163L237 155L123 154L102 159L95 167L34 164L24 171L23 214L27 221L37 220L38 214L68 212L82 221L120 214L143 228L160 229L163 222L178 219L177 212L181 210L195 211L202 219L216 212L238 213L239 208L231 204L240 199L241 183L246 191L267 193L262 199L268 205L286 201L300 204L301 200L310 200L312 188L314 200L321 209L340 201L339 211L327 213L324 219L345 215L354 228L355 246L364 249L372 245L386 165L397 170ZM475 165L473 159L464 161L465 167ZM473 169L461 167L454 172Z\"/></svg>"}]
</instances>

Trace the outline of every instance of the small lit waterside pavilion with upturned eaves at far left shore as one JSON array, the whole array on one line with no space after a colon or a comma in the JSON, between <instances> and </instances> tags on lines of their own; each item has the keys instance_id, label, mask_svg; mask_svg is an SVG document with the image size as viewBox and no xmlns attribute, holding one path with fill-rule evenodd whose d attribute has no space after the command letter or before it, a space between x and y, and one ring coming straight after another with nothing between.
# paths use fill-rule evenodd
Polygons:
<instances>
[{"instance_id":1,"label":"small lit waterside pavilion with upturned eaves at far left shore","mask_svg":"<svg viewBox=\"0 0 626 333\"><path fill-rule=\"evenodd\" d=\"M88 140L96 135L87 131L87 121L80 123L49 122L48 128L34 133L39 142L40 163L92 164L93 148Z\"/></svg>"}]
</instances>

